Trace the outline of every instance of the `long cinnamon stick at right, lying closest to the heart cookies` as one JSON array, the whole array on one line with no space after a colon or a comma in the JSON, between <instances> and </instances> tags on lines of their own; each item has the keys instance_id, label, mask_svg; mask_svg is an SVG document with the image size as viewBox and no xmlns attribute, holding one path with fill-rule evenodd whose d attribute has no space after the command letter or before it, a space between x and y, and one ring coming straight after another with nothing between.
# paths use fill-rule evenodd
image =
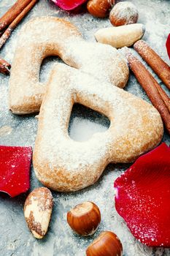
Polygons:
<instances>
[{"instance_id":1,"label":"long cinnamon stick at right, lying closest to the heart cookies","mask_svg":"<svg viewBox=\"0 0 170 256\"><path fill-rule=\"evenodd\" d=\"M129 67L131 68L132 72L134 72L136 79L139 81L144 91L147 93L152 105L154 105L161 114L163 123L170 134L170 113L165 102L163 101L162 91L158 91L157 89L159 86L157 81L144 67L142 62L139 61L139 59L137 59L136 56L134 56L129 50L126 50L125 56L128 60Z\"/></svg>"}]
</instances>

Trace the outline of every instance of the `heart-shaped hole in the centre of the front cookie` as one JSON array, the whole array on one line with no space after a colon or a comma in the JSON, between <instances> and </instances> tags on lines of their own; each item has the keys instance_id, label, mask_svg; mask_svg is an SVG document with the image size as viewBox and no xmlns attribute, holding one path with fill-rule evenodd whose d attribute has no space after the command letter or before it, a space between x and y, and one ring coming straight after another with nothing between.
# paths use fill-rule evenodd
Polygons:
<instances>
[{"instance_id":1,"label":"heart-shaped hole in the centre of the front cookie","mask_svg":"<svg viewBox=\"0 0 170 256\"><path fill-rule=\"evenodd\" d=\"M96 132L105 132L110 126L107 116L86 108L80 104L74 104L69 120L69 136L72 140L89 140Z\"/></svg>"}]
</instances>

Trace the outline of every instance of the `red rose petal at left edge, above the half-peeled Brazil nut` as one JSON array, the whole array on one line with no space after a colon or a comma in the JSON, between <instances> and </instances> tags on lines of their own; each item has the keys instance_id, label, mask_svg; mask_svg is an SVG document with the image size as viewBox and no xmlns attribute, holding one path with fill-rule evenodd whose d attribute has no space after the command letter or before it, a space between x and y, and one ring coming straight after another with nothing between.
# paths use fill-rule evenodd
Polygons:
<instances>
[{"instance_id":1,"label":"red rose petal at left edge, above the half-peeled Brazil nut","mask_svg":"<svg viewBox=\"0 0 170 256\"><path fill-rule=\"evenodd\" d=\"M0 191L11 197L30 187L32 148L0 146Z\"/></svg>"}]
</instances>

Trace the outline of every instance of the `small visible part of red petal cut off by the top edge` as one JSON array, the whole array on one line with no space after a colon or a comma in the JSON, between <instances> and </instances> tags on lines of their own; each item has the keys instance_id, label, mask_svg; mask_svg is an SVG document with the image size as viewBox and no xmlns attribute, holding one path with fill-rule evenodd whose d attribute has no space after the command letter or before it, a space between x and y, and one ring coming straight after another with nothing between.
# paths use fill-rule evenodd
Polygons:
<instances>
[{"instance_id":1,"label":"small visible part of red petal cut off by the top edge","mask_svg":"<svg viewBox=\"0 0 170 256\"><path fill-rule=\"evenodd\" d=\"M81 4L85 3L87 0L52 0L58 7L63 10L70 11L79 7Z\"/></svg>"}]
</instances>

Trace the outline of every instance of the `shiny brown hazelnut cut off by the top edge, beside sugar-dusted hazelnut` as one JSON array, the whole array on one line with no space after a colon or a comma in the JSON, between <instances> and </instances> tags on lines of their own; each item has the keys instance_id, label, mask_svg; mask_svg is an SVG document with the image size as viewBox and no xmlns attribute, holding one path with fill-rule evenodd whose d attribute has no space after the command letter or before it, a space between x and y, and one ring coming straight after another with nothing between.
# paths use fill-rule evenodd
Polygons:
<instances>
[{"instance_id":1,"label":"shiny brown hazelnut cut off by the top edge, beside sugar-dusted hazelnut","mask_svg":"<svg viewBox=\"0 0 170 256\"><path fill-rule=\"evenodd\" d=\"M109 9L115 4L115 0L90 0L88 1L88 12L98 18L105 18L109 15Z\"/></svg>"}]
</instances>

